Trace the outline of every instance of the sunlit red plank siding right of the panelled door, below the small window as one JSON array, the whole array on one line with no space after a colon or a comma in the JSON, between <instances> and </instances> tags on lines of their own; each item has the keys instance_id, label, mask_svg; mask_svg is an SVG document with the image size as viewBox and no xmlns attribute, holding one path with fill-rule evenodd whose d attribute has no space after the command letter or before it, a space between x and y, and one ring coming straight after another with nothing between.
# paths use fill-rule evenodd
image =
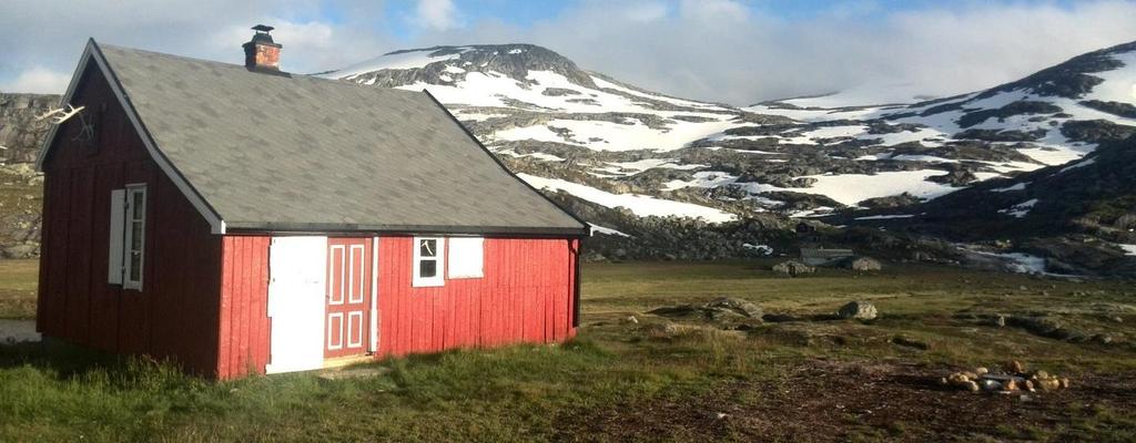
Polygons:
<instances>
[{"instance_id":1,"label":"sunlit red plank siding right of the panelled door, below the small window","mask_svg":"<svg viewBox=\"0 0 1136 443\"><path fill-rule=\"evenodd\" d=\"M381 238L379 357L575 335L576 240L487 238L484 245L484 278L414 288L414 239Z\"/></svg>"}]
</instances>

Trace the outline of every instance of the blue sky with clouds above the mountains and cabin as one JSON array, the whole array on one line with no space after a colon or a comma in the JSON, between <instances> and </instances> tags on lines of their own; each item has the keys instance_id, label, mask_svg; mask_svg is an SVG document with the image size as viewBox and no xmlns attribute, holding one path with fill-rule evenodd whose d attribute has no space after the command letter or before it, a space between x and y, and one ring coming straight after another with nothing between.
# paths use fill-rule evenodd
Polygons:
<instances>
[{"instance_id":1,"label":"blue sky with clouds above the mountains and cabin","mask_svg":"<svg viewBox=\"0 0 1136 443\"><path fill-rule=\"evenodd\" d=\"M1136 40L1136 0L3 0L0 91L61 92L87 37L241 62L276 26L314 73L434 44L535 43L673 95L949 95Z\"/></svg>"}]
</instances>

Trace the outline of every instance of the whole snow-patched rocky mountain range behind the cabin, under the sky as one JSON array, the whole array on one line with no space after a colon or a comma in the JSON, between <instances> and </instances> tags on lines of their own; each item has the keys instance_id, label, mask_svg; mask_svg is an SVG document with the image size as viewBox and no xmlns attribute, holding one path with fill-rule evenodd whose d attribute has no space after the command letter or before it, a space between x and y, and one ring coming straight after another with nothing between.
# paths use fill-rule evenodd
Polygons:
<instances>
[{"instance_id":1,"label":"whole snow-patched rocky mountain range behind the cabin, under the sky","mask_svg":"<svg viewBox=\"0 0 1136 443\"><path fill-rule=\"evenodd\" d=\"M885 105L847 104L879 96L870 91L747 108L677 99L528 44L395 51L323 75L428 90L536 187L711 222L932 199L1136 130L1136 43L984 92Z\"/></svg>"}]
</instances>

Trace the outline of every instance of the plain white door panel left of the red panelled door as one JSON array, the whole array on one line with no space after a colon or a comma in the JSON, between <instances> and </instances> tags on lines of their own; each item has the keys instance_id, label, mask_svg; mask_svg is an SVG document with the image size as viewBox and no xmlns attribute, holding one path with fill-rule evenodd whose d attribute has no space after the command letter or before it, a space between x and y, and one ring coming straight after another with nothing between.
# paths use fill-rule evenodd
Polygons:
<instances>
[{"instance_id":1,"label":"plain white door panel left of the red panelled door","mask_svg":"<svg viewBox=\"0 0 1136 443\"><path fill-rule=\"evenodd\" d=\"M327 237L274 237L268 252L269 374L324 366Z\"/></svg>"}]
</instances>

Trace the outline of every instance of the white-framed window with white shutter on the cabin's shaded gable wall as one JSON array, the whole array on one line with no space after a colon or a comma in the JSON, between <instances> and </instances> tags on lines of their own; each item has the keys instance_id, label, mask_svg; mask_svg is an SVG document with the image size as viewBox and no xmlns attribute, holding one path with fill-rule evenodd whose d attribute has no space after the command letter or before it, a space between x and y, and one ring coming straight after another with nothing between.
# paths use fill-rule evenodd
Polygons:
<instances>
[{"instance_id":1,"label":"white-framed window with white shutter on the cabin's shaded gable wall","mask_svg":"<svg viewBox=\"0 0 1136 443\"><path fill-rule=\"evenodd\" d=\"M108 282L142 289L145 256L145 185L127 185L110 193Z\"/></svg>"}]
</instances>

